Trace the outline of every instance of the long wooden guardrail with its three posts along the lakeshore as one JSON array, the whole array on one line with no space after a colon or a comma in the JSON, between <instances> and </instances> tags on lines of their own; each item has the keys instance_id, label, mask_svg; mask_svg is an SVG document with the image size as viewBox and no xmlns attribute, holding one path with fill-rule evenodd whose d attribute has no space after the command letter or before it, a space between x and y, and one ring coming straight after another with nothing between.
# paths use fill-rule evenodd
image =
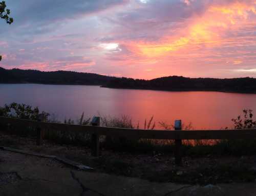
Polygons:
<instances>
[{"instance_id":1,"label":"long wooden guardrail with its three posts along the lakeshore","mask_svg":"<svg viewBox=\"0 0 256 196\"><path fill-rule=\"evenodd\" d=\"M43 122L27 119L0 117L0 124L15 124L37 128L37 144L41 144L42 132L45 129L55 131L88 132L92 134L92 155L99 155L99 136L115 136L134 139L174 139L175 140L175 162L181 164L182 140L189 139L251 139L256 138L256 129L243 130L181 130L181 120L175 120L175 130L142 130L99 127L100 118L94 117L91 125L70 125L52 122Z\"/></svg>"}]
</instances>

